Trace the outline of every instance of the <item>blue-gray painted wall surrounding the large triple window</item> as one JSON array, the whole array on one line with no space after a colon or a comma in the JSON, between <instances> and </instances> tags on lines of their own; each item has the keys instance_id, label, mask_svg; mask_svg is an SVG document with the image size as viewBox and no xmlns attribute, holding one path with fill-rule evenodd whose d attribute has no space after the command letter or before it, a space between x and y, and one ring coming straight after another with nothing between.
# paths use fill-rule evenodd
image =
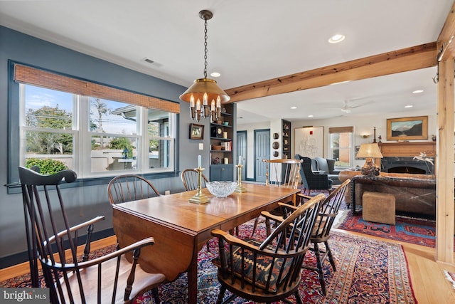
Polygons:
<instances>
[{"instance_id":1,"label":"blue-gray painted wall surrounding the large triple window","mask_svg":"<svg viewBox=\"0 0 455 304\"><path fill-rule=\"evenodd\" d=\"M166 47L166 46L162 46ZM179 102L178 95L186 88L175 83L123 68L122 66L72 51L68 48L48 43L38 38L19 33L0 26L0 268L9 266L12 257L26 251L25 228L21 194L8 194L8 61L18 61L36 67L73 75L77 78L92 80L97 83L144 93L156 98ZM201 120L205 125L203 141L189 140L188 103L181 103L178 125L178 169L197 167L197 155L203 156L203 167L208 168L210 152L210 130L208 120ZM13 130L17 134L17 130ZM198 150L198 144L204 143L204 150ZM14 168L13 168L14 169ZM183 191L183 185L177 171L175 177L152 179L158 190L173 192ZM207 169L208 175L208 169ZM112 228L112 209L107 199L107 185L86 186L64 189L66 204L72 209L74 223L80 223L97 215L105 215L106 221L96 227L97 230ZM153 233L152 233L153 234Z\"/></svg>"}]
</instances>

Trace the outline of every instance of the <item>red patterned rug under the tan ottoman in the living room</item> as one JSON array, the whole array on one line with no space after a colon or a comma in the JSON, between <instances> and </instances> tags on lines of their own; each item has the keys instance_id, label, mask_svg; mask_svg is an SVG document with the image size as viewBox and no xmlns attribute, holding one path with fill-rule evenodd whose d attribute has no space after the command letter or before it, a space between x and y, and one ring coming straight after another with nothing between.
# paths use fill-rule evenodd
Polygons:
<instances>
[{"instance_id":1,"label":"red patterned rug under the tan ottoman in the living room","mask_svg":"<svg viewBox=\"0 0 455 304\"><path fill-rule=\"evenodd\" d=\"M349 211L336 228L427 247L436 246L436 223L425 219L396 216L394 226L364 221L361 214L353 216Z\"/></svg>"}]
</instances>

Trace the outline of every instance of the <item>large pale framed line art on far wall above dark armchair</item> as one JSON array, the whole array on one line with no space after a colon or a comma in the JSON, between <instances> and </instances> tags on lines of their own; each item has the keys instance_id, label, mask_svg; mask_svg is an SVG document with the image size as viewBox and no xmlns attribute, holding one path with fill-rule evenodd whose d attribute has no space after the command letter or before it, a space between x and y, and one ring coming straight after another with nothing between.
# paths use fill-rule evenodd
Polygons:
<instances>
[{"instance_id":1,"label":"large pale framed line art on far wall above dark armchair","mask_svg":"<svg viewBox=\"0 0 455 304\"><path fill-rule=\"evenodd\" d=\"M295 129L295 154L305 157L323 157L324 127L298 127Z\"/></svg>"}]
</instances>

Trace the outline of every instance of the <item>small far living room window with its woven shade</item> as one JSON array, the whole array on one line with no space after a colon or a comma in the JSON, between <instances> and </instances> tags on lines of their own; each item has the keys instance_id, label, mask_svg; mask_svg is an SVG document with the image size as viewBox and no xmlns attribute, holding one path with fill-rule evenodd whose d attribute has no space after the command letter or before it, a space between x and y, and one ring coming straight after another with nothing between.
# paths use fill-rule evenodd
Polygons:
<instances>
[{"instance_id":1,"label":"small far living room window with its woven shade","mask_svg":"<svg viewBox=\"0 0 455 304\"><path fill-rule=\"evenodd\" d=\"M353 127L329 127L330 149L329 157L336 159L339 169L353 166Z\"/></svg>"}]
</instances>

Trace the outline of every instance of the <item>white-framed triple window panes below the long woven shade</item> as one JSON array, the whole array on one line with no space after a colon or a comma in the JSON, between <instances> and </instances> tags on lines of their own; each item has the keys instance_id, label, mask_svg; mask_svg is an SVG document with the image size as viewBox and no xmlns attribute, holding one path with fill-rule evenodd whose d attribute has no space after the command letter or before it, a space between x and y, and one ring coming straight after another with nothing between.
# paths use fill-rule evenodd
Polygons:
<instances>
[{"instance_id":1,"label":"white-framed triple window panes below the long woven shade","mask_svg":"<svg viewBox=\"0 0 455 304\"><path fill-rule=\"evenodd\" d=\"M21 84L21 165L54 159L80 177L173 169L175 114Z\"/></svg>"}]
</instances>

